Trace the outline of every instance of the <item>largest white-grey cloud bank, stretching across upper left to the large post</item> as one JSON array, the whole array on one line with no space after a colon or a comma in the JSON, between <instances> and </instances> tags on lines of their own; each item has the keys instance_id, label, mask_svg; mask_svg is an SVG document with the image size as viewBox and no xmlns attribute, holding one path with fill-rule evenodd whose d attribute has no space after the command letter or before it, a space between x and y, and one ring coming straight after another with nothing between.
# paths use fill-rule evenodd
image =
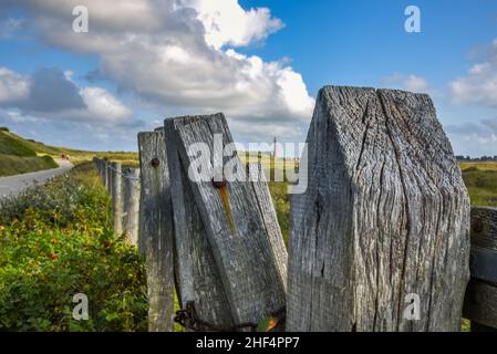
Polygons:
<instances>
[{"instance_id":1,"label":"largest white-grey cloud bank, stretching across upper left to the large post","mask_svg":"<svg viewBox=\"0 0 497 354\"><path fill-rule=\"evenodd\" d=\"M169 114L224 111L252 123L239 124L245 134L259 133L256 122L298 128L312 116L314 100L299 73L236 51L283 27L269 9L245 10L237 0L7 1L30 13L46 43L96 53L93 77ZM76 4L89 8L89 33L72 31Z\"/></svg>"}]
</instances>

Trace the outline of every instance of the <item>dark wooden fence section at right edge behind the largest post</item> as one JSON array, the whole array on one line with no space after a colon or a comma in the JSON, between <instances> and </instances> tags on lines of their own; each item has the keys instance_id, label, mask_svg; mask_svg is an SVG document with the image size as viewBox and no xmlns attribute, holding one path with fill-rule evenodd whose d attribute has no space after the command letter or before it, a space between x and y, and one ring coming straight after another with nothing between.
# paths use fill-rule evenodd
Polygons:
<instances>
[{"instance_id":1,"label":"dark wooden fence section at right edge behind the largest post","mask_svg":"<svg viewBox=\"0 0 497 354\"><path fill-rule=\"evenodd\" d=\"M473 332L497 331L497 209L472 210L472 280L466 289L464 316Z\"/></svg>"}]
</instances>

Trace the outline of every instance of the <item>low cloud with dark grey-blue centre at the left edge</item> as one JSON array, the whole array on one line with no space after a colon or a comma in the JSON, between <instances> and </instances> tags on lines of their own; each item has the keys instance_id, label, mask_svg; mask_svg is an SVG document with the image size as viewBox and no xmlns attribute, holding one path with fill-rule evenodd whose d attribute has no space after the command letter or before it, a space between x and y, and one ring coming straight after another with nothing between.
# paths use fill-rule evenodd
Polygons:
<instances>
[{"instance_id":1,"label":"low cloud with dark grey-blue centre at the left edge","mask_svg":"<svg viewBox=\"0 0 497 354\"><path fill-rule=\"evenodd\" d=\"M0 67L0 107L9 110L14 122L39 117L102 126L137 124L132 110L111 93L80 87L70 75L56 67L41 69L31 76Z\"/></svg>"}]
</instances>

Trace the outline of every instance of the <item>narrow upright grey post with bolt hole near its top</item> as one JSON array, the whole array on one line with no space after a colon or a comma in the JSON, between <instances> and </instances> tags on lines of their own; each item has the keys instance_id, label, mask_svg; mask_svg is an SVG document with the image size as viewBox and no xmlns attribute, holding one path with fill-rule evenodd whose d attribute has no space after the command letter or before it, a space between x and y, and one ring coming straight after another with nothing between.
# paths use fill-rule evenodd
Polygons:
<instances>
[{"instance_id":1,"label":"narrow upright grey post with bolt hole near its top","mask_svg":"<svg viewBox=\"0 0 497 354\"><path fill-rule=\"evenodd\" d=\"M141 210L138 248L145 256L148 330L173 331L173 210L164 133L138 134Z\"/></svg>"}]
</instances>

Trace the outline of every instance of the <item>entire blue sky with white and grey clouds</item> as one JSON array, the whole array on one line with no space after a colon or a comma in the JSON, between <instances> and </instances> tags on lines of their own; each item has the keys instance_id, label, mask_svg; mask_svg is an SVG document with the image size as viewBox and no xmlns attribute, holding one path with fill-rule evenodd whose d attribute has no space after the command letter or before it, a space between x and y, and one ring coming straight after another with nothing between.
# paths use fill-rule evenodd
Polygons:
<instances>
[{"instance_id":1,"label":"entire blue sky with white and grey clouds","mask_svg":"<svg viewBox=\"0 0 497 354\"><path fill-rule=\"evenodd\" d=\"M136 150L216 112L242 144L304 142L330 84L428 93L457 155L497 155L497 0L0 2L0 125L51 145Z\"/></svg>"}]
</instances>

